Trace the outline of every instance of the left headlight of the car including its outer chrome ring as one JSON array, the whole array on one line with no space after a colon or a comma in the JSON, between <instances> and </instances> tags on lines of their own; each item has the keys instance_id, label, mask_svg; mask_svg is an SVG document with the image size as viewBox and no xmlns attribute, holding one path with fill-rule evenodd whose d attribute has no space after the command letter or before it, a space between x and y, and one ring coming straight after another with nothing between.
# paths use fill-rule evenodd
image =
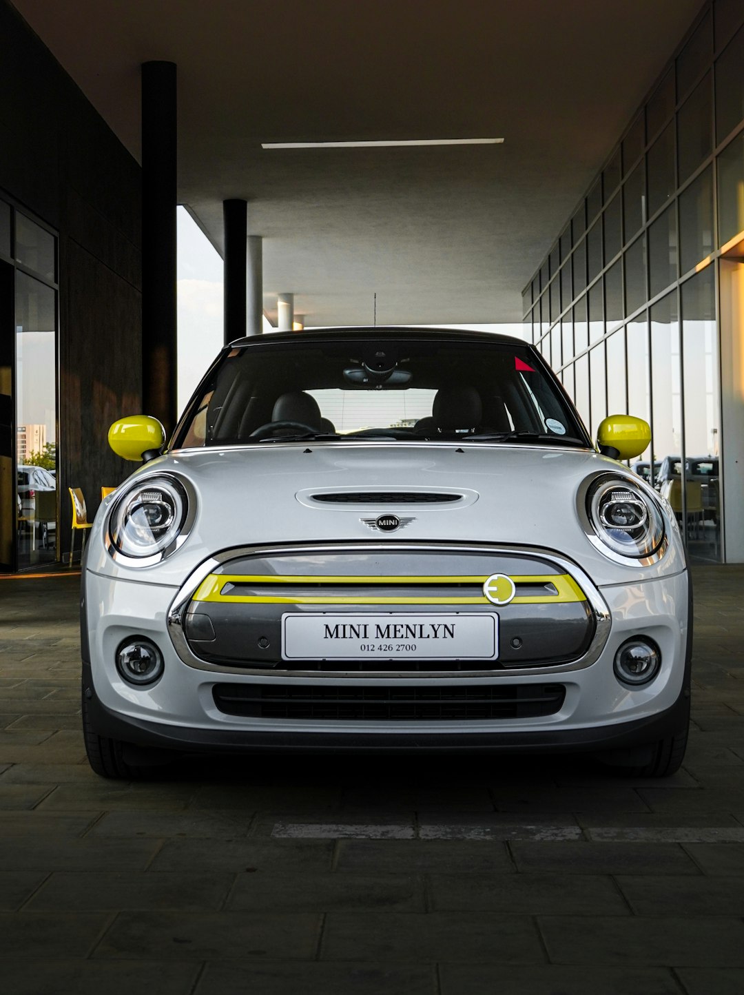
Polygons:
<instances>
[{"instance_id":1,"label":"left headlight of the car including its outer chrome ring","mask_svg":"<svg viewBox=\"0 0 744 995\"><path fill-rule=\"evenodd\" d=\"M178 550L196 518L196 495L188 481L170 473L137 477L111 505L105 545L124 566L160 563Z\"/></svg>"}]
</instances>

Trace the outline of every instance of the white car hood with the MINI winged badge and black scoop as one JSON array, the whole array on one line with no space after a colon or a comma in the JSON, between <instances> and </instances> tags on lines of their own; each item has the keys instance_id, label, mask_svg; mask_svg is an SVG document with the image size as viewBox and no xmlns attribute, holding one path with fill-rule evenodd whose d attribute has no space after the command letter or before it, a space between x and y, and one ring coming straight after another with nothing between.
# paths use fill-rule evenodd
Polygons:
<instances>
[{"instance_id":1,"label":"white car hood with the MINI winged badge and black scoop","mask_svg":"<svg viewBox=\"0 0 744 995\"><path fill-rule=\"evenodd\" d=\"M180 586L205 559L240 546L455 541L553 550L579 563L597 584L684 569L668 512L672 541L658 563L627 566L595 549L579 519L578 489L597 473L629 471L589 450L465 442L268 443L176 451L145 464L130 481L163 472L185 478L196 494L197 516L189 538L154 567L114 563L104 550L106 509L114 493L96 515L89 568ZM463 497L445 503L321 503L313 497L401 491ZM385 512L409 520L386 534L370 524Z\"/></svg>"}]
</instances>

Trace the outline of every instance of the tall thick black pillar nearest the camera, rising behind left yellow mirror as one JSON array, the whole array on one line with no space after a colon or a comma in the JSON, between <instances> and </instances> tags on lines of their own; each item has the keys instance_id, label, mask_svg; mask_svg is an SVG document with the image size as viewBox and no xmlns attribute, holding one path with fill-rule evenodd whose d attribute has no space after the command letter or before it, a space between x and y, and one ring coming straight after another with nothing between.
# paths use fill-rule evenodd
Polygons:
<instances>
[{"instance_id":1,"label":"tall thick black pillar nearest the camera, rising behind left yellow mirror","mask_svg":"<svg viewBox=\"0 0 744 995\"><path fill-rule=\"evenodd\" d=\"M142 63L142 408L177 419L176 64Z\"/></svg>"}]
</instances>

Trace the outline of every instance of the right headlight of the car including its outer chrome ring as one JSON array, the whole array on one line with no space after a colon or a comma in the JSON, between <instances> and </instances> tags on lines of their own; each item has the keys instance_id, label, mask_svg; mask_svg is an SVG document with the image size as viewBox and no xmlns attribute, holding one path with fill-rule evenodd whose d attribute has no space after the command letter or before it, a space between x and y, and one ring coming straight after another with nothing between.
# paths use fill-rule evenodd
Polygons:
<instances>
[{"instance_id":1,"label":"right headlight of the car including its outer chrome ring","mask_svg":"<svg viewBox=\"0 0 744 995\"><path fill-rule=\"evenodd\" d=\"M577 496L587 538L603 555L627 566L651 566L666 552L669 528L651 488L623 474L584 481Z\"/></svg>"}]
</instances>

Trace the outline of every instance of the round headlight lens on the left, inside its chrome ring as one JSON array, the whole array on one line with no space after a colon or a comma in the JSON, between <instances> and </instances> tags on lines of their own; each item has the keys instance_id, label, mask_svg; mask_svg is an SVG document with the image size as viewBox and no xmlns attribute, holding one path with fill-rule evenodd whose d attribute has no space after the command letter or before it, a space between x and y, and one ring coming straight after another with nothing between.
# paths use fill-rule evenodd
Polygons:
<instances>
[{"instance_id":1,"label":"round headlight lens on the left, inside its chrome ring","mask_svg":"<svg viewBox=\"0 0 744 995\"><path fill-rule=\"evenodd\" d=\"M178 481L150 477L118 498L108 524L111 543L123 556L164 554L176 541L188 511Z\"/></svg>"}]
</instances>

